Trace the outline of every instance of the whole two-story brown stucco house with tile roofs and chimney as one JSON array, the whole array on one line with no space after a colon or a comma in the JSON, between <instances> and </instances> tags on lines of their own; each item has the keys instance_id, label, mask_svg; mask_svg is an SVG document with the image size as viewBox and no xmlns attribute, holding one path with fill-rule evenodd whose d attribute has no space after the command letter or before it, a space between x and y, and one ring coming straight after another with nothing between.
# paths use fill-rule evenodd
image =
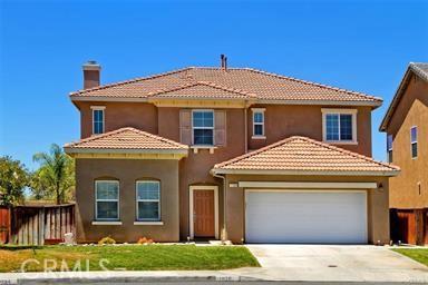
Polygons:
<instances>
[{"instance_id":1,"label":"whole two-story brown stucco house with tile roofs and chimney","mask_svg":"<svg viewBox=\"0 0 428 285\"><path fill-rule=\"evenodd\" d=\"M389 243L381 99L224 59L105 86L99 71L70 95L79 242Z\"/></svg>"}]
</instances>

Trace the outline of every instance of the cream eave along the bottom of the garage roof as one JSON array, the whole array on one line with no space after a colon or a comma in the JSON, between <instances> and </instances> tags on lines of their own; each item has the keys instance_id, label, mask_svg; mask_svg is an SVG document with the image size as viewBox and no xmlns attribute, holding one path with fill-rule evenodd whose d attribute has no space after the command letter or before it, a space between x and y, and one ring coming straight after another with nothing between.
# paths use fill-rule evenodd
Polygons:
<instances>
[{"instance_id":1,"label":"cream eave along the bottom of the garage roof","mask_svg":"<svg viewBox=\"0 0 428 285\"><path fill-rule=\"evenodd\" d=\"M342 170L281 170L281 169L224 169L213 168L212 175L315 175L315 176L397 176L400 170L342 171Z\"/></svg>"}]
</instances>

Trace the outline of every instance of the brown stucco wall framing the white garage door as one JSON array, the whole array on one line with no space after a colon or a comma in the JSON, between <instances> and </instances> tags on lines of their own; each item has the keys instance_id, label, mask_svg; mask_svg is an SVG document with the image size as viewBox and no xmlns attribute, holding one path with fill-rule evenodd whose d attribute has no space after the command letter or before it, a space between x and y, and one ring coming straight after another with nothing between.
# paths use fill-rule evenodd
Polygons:
<instances>
[{"instance_id":1,"label":"brown stucco wall framing the white garage door","mask_svg":"<svg viewBox=\"0 0 428 285\"><path fill-rule=\"evenodd\" d=\"M367 189L368 206L368 240L371 244L378 242L389 244L389 190L388 177L361 177L361 176L255 176L255 175L227 175L226 190L226 230L227 238L233 243L242 243L245 238L245 195L244 188L231 188L228 184L237 181L331 181L331 183L378 183L382 188ZM317 191L317 189L314 189Z\"/></svg>"}]
</instances>

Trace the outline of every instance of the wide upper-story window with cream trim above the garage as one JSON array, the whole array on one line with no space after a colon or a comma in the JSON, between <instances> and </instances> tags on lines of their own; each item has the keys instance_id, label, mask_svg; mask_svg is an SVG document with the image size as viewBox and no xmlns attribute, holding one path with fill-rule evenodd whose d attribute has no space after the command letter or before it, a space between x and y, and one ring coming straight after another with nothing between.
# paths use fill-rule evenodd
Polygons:
<instances>
[{"instance_id":1,"label":"wide upper-story window with cream trim above the garage","mask_svg":"<svg viewBox=\"0 0 428 285\"><path fill-rule=\"evenodd\" d=\"M356 109L322 109L323 140L357 144Z\"/></svg>"}]
</instances>

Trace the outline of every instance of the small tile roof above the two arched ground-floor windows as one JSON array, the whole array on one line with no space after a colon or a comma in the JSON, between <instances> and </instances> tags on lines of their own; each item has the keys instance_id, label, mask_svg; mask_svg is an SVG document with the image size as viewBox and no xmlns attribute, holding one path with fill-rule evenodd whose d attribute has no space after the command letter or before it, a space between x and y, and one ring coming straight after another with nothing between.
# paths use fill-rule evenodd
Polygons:
<instances>
[{"instance_id":1,"label":"small tile roof above the two arched ground-floor windows","mask_svg":"<svg viewBox=\"0 0 428 285\"><path fill-rule=\"evenodd\" d=\"M120 150L185 150L188 147L135 128L120 128L65 145L66 153L88 149Z\"/></svg>"}]
</instances>

